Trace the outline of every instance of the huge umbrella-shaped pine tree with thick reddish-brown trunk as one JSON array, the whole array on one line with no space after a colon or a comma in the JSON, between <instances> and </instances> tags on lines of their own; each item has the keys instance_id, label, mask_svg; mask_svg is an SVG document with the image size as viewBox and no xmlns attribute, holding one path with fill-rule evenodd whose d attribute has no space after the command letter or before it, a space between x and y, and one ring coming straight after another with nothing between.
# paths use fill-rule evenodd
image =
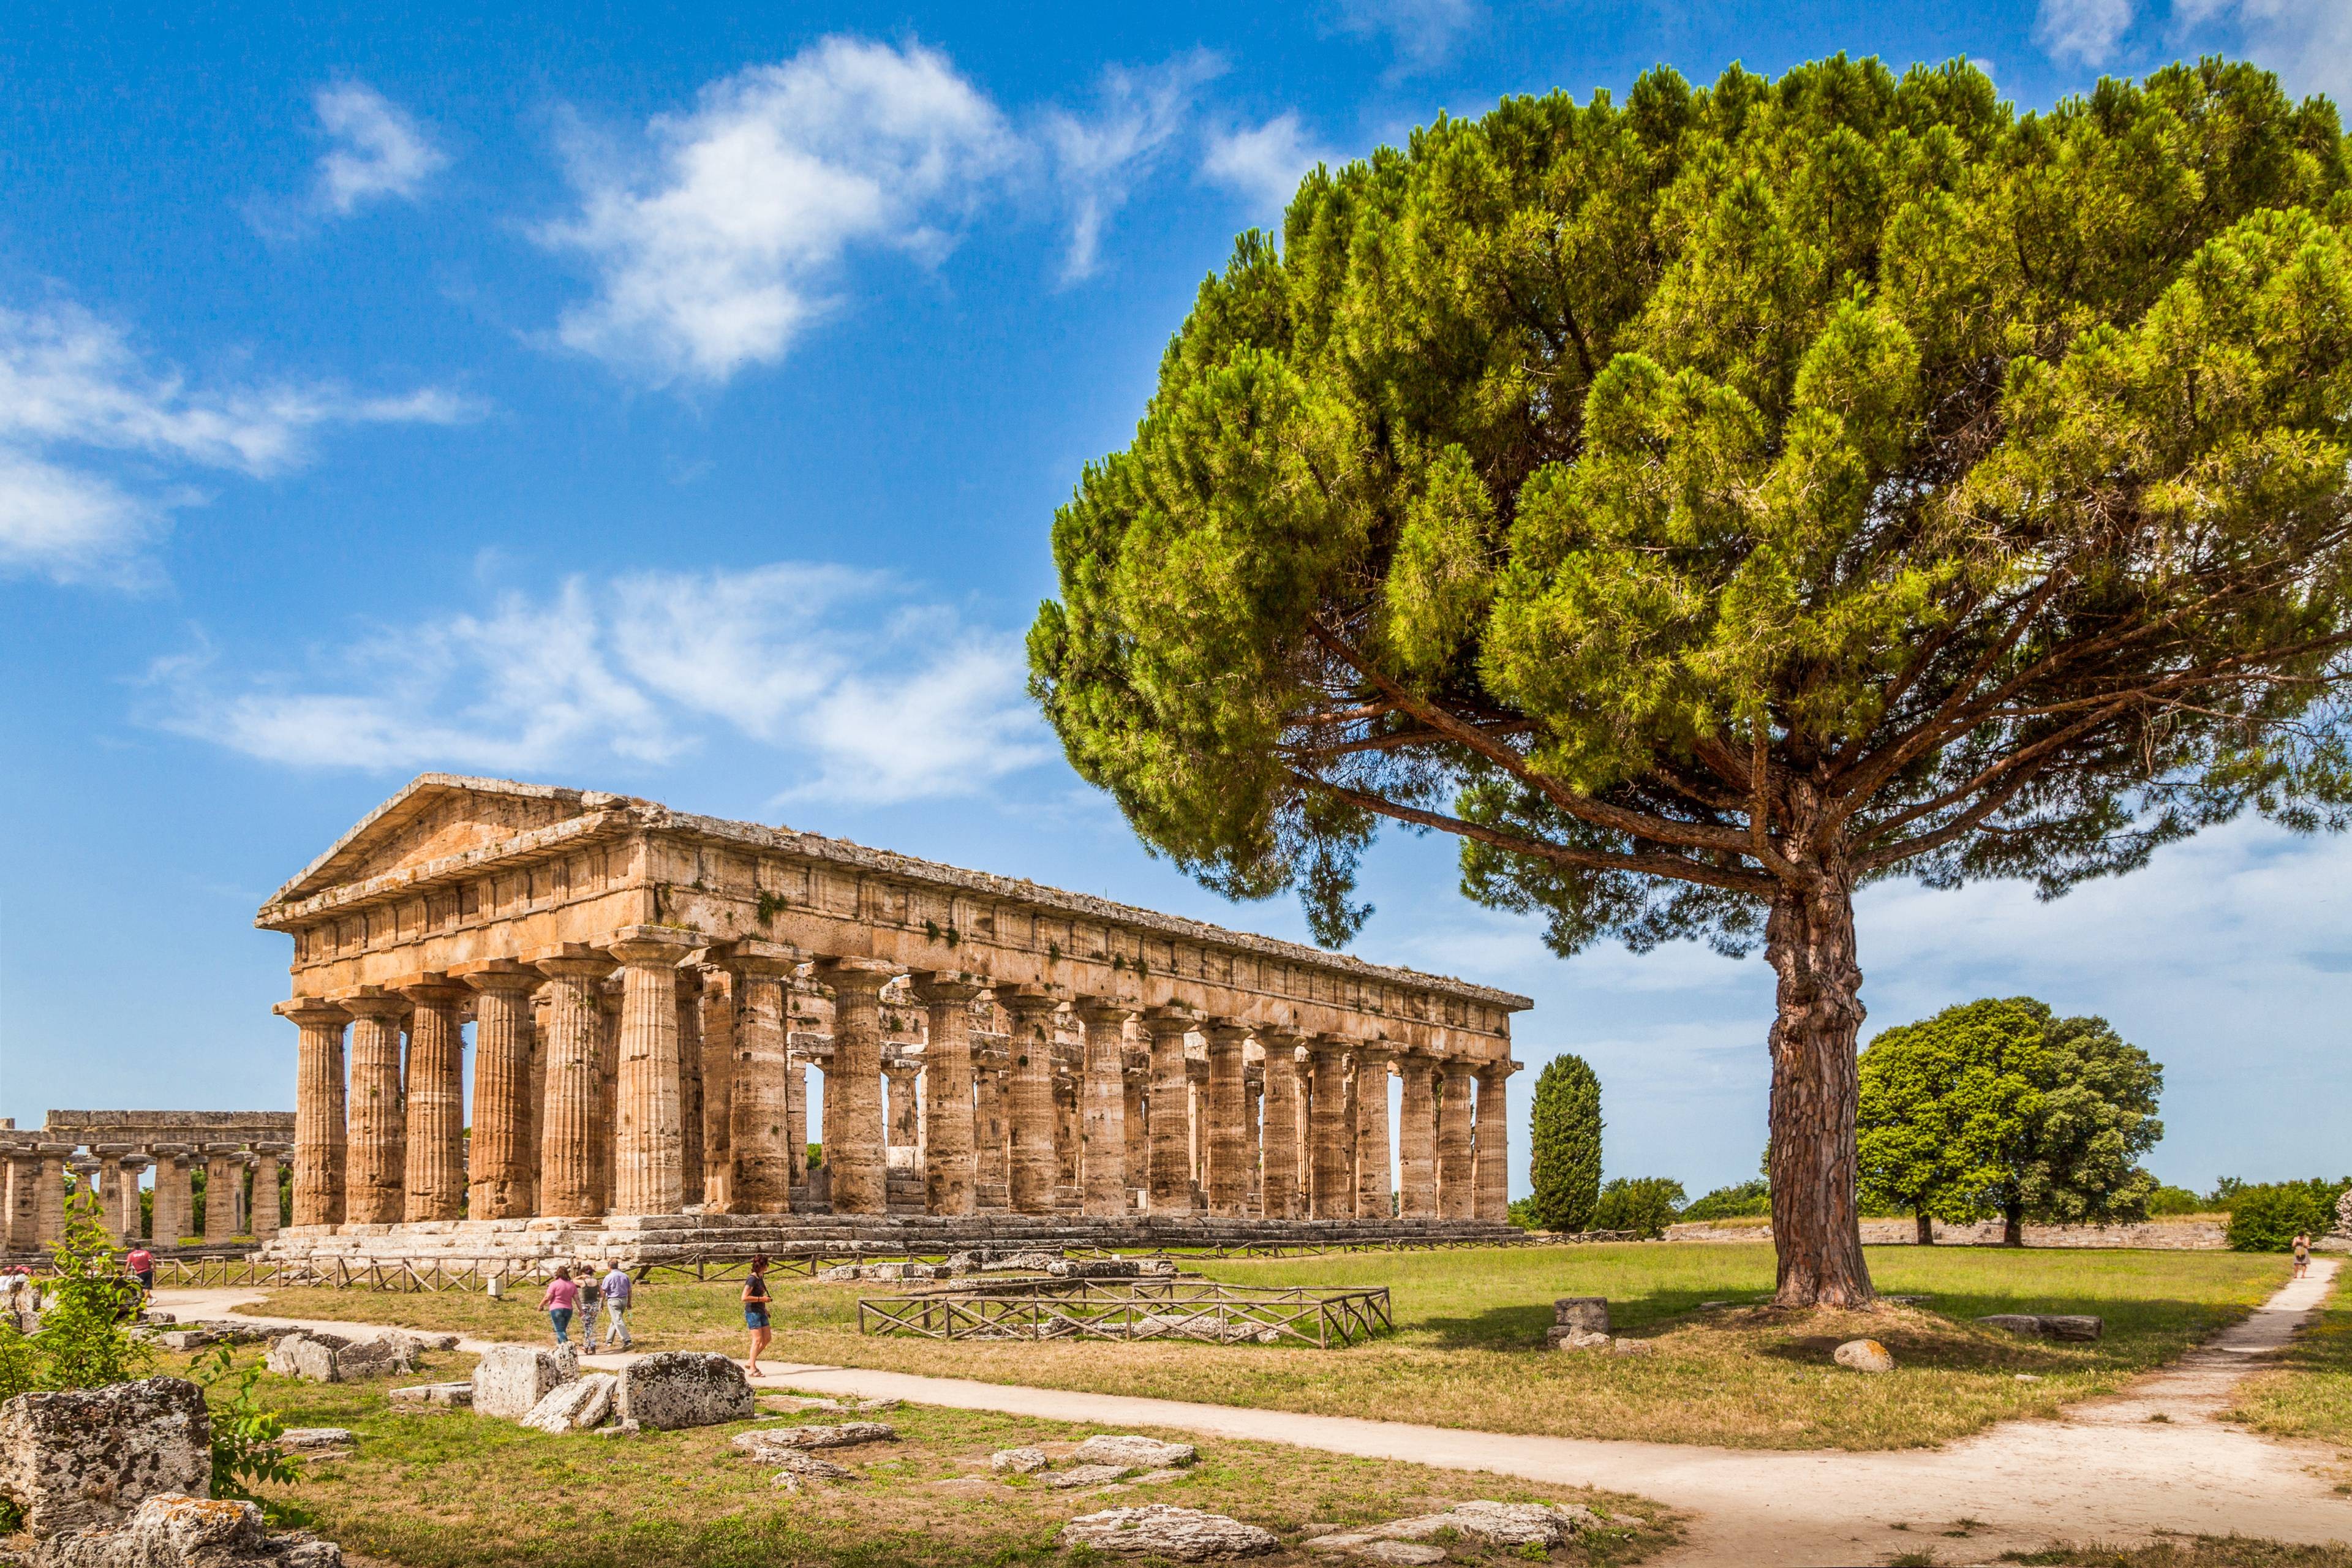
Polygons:
<instances>
[{"instance_id":1,"label":"huge umbrella-shaped pine tree with thick reddish-brown trunk","mask_svg":"<svg viewBox=\"0 0 2352 1568\"><path fill-rule=\"evenodd\" d=\"M1856 889L2338 827L2352 195L2241 63L2020 115L1830 59L1301 183L1056 512L1033 691L1209 886L1383 820L1571 954L1762 943L1778 1300L1870 1300Z\"/></svg>"}]
</instances>

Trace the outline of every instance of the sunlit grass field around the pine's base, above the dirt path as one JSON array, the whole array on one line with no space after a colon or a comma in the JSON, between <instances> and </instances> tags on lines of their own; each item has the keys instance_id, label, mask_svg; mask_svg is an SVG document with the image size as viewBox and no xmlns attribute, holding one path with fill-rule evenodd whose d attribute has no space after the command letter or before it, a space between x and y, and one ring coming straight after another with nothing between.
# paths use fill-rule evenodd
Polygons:
<instances>
[{"instance_id":1,"label":"sunlit grass field around the pine's base, above the dirt path","mask_svg":"<svg viewBox=\"0 0 2352 1568\"><path fill-rule=\"evenodd\" d=\"M887 1286L783 1281L774 1354L1486 1432L1912 1448L2110 1392L2237 1321L2286 1276L2284 1258L2241 1253L1898 1246L1872 1248L1870 1267L1882 1291L1926 1295L1919 1307L1785 1314L1755 1305L1773 1281L1769 1246L1350 1253L1197 1267L1237 1284L1385 1284L1397 1333L1345 1352L882 1340L861 1338L854 1319L856 1298L884 1295ZM1541 1349L1555 1295L1606 1295L1618 1333L1653 1340L1658 1354ZM266 1309L510 1340L543 1333L529 1305L480 1295L278 1291ZM1973 1324L1990 1312L2093 1312L2107 1319L2107 1338L2013 1340ZM741 1354L736 1286L654 1284L642 1288L637 1314L640 1347ZM1835 1368L1830 1349L1858 1335L1886 1342L1898 1371L1872 1378Z\"/></svg>"}]
</instances>

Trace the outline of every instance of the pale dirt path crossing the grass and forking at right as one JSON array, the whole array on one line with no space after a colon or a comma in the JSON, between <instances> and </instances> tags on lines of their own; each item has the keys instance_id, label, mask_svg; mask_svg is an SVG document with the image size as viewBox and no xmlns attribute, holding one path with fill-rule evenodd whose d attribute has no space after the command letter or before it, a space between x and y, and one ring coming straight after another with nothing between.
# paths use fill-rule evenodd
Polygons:
<instances>
[{"instance_id":1,"label":"pale dirt path crossing the grass and forking at right","mask_svg":"<svg viewBox=\"0 0 2352 1568\"><path fill-rule=\"evenodd\" d=\"M1919 1549L1966 1563L2053 1540L2147 1540L2161 1530L2352 1542L2352 1497L2314 1469L2328 1450L2272 1443L2216 1420L2253 1359L2284 1345L2321 1302L2336 1269L2336 1260L2314 1260L2310 1279L2291 1281L2244 1324L2112 1399L2072 1406L2063 1420L2004 1422L1947 1448L1905 1453L1508 1436L837 1366L786 1363L760 1382L1606 1486L1691 1514L1686 1542L1661 1568L1813 1568ZM249 1288L167 1291L158 1305L216 1316L249 1298ZM619 1361L595 1356L600 1366Z\"/></svg>"}]
</instances>

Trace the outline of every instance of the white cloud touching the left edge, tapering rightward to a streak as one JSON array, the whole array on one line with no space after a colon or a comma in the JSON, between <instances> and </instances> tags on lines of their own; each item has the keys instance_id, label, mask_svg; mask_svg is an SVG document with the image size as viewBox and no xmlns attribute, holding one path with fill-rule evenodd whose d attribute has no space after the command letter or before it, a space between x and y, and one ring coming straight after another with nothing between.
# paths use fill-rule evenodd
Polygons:
<instances>
[{"instance_id":1,"label":"white cloud touching the left edge, tapering rightward to a streak","mask_svg":"<svg viewBox=\"0 0 2352 1568\"><path fill-rule=\"evenodd\" d=\"M120 327L73 303L0 306L0 576L153 581L146 545L200 496L188 470L268 477L308 458L310 433L350 423L456 423L475 404L423 388L365 397L332 383L200 388L153 369ZM136 473L99 473L96 454Z\"/></svg>"}]
</instances>

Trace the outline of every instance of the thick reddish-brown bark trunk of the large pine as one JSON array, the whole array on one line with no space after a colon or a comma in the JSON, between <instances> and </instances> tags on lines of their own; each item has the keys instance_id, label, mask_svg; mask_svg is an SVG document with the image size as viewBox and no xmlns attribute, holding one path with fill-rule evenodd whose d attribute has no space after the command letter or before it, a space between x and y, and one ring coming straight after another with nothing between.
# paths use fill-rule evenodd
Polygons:
<instances>
[{"instance_id":1,"label":"thick reddish-brown bark trunk of the large pine","mask_svg":"<svg viewBox=\"0 0 2352 1568\"><path fill-rule=\"evenodd\" d=\"M1823 867L1773 898L1764 957L1780 976L1771 1025L1771 1234L1783 1307L1867 1307L1856 1204L1856 1067L1863 971L1853 882Z\"/></svg>"}]
</instances>

